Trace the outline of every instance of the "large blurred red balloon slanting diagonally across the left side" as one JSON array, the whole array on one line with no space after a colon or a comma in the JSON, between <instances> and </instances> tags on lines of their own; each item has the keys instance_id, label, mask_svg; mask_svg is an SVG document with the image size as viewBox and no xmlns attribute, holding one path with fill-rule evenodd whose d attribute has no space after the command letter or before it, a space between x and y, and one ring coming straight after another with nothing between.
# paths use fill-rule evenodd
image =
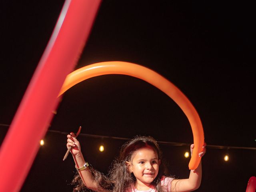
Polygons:
<instances>
[{"instance_id":1,"label":"large blurred red balloon slanting diagonally across the left side","mask_svg":"<svg viewBox=\"0 0 256 192\"><path fill-rule=\"evenodd\" d=\"M66 0L46 50L0 148L0 191L20 190L44 137L58 93L90 33L100 0Z\"/></svg>"}]
</instances>

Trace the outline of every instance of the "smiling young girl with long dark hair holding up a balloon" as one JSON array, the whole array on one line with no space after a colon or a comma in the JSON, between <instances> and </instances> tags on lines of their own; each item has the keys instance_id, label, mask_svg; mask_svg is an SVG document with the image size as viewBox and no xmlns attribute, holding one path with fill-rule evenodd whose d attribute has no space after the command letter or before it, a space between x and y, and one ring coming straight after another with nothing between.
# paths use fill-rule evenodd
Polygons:
<instances>
[{"instance_id":1,"label":"smiling young girl with long dark hair holding up a balloon","mask_svg":"<svg viewBox=\"0 0 256 192\"><path fill-rule=\"evenodd\" d=\"M201 162L196 170L190 171L188 179L167 177L168 170L162 161L162 152L156 140L150 136L136 136L126 142L108 176L94 170L84 160L74 133L67 137L67 147L72 147L70 152L79 173L73 180L73 184L77 184L74 192L88 189L96 192L187 192L200 186ZM205 154L205 146L199 156ZM190 147L191 153L193 148L194 144Z\"/></svg>"}]
</instances>

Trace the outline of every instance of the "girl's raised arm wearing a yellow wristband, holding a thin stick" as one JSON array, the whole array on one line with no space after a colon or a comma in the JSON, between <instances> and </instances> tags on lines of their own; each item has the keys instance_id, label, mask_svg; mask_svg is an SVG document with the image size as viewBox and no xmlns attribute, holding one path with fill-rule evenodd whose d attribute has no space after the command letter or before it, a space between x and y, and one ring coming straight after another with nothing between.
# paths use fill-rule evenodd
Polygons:
<instances>
[{"instance_id":1,"label":"girl's raised arm wearing a yellow wristband, holding a thin stick","mask_svg":"<svg viewBox=\"0 0 256 192\"><path fill-rule=\"evenodd\" d=\"M71 154L74 158L76 168L78 168L78 170L80 168L83 169L83 170L80 170L78 172L79 172L79 175L80 175L82 181L84 182L84 185L87 188L89 188L91 190L94 190L94 191L97 191L97 192L107 191L107 190L104 190L104 189L99 187L99 184L94 181L92 173L90 172L90 169L88 167L86 167L87 166L86 161L84 160L84 157L82 155L80 143L75 138L75 134L72 132L72 133L70 133L70 135L67 136L67 138L68 138L67 148L69 146L72 147L70 152L71 152ZM85 169L84 169L84 166L86 167Z\"/></svg>"}]
</instances>

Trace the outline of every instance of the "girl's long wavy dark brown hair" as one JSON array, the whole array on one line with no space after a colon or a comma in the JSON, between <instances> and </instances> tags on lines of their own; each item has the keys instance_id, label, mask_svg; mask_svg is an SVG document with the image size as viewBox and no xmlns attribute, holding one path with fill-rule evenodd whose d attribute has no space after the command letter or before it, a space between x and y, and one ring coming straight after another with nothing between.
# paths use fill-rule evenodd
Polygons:
<instances>
[{"instance_id":1,"label":"girl's long wavy dark brown hair","mask_svg":"<svg viewBox=\"0 0 256 192\"><path fill-rule=\"evenodd\" d=\"M111 192L123 192L130 187L132 183L136 181L136 178L133 173L130 173L128 167L126 166L126 161L130 162L133 158L134 152L144 147L152 147L156 150L158 154L158 159L161 160L159 166L158 175L152 182L155 186L157 192L163 192L161 186L161 177L168 175L168 169L166 167L166 161L163 159L162 151L159 148L157 141L151 136L136 136L133 139L126 142L120 150L118 158L116 158L111 166L109 174L105 176L104 174L94 170L90 166L90 172L92 174L92 179L98 183L99 189L104 189ZM92 191L84 185L82 179L77 173L72 184L76 185L73 192L82 192L82 191Z\"/></svg>"}]
</instances>

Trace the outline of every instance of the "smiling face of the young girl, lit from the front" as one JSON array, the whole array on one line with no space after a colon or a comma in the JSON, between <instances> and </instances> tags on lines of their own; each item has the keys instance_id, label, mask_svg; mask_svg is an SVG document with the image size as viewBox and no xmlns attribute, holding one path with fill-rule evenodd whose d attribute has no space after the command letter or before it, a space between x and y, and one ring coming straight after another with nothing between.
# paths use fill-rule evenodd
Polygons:
<instances>
[{"instance_id":1,"label":"smiling face of the young girl, lit from the front","mask_svg":"<svg viewBox=\"0 0 256 192\"><path fill-rule=\"evenodd\" d=\"M126 163L130 172L136 177L137 184L143 183L149 186L158 174L160 160L157 152L149 146L137 150L132 161Z\"/></svg>"}]
</instances>

